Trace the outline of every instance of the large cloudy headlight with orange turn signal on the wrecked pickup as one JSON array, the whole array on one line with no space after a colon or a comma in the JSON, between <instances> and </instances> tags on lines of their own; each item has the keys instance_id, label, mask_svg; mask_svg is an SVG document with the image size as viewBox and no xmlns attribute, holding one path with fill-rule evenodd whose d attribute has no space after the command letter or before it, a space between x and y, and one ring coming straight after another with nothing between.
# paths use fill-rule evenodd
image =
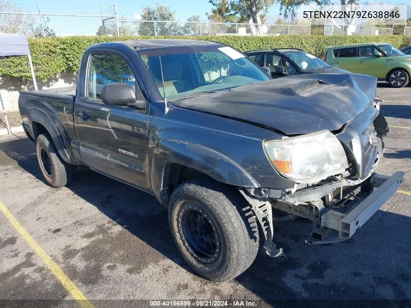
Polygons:
<instances>
[{"instance_id":1,"label":"large cloudy headlight with orange turn signal on the wrecked pickup","mask_svg":"<svg viewBox=\"0 0 411 308\"><path fill-rule=\"evenodd\" d=\"M275 169L300 183L320 181L348 168L340 141L328 130L265 141L264 149Z\"/></svg>"}]
</instances>

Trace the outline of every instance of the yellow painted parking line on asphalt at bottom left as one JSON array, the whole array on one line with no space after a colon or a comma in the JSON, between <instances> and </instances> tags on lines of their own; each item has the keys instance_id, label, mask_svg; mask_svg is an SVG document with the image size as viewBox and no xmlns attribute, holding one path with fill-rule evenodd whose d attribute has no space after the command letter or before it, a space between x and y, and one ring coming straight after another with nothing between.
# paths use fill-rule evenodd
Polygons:
<instances>
[{"instance_id":1,"label":"yellow painted parking line on asphalt at bottom left","mask_svg":"<svg viewBox=\"0 0 411 308\"><path fill-rule=\"evenodd\" d=\"M94 308L94 306L89 302L86 296L78 290L74 283L66 276L66 274L58 267L58 265L53 261L53 259L37 244L35 239L30 236L30 234L23 228L23 226L17 221L17 219L11 214L8 208L0 201L0 210L3 212L4 216L10 221L13 227L16 228L17 232L27 241L27 243L34 249L36 254L47 264L50 271L54 273L58 280L60 280L66 290L69 291L71 296L77 301L81 308Z\"/></svg>"}]
</instances>

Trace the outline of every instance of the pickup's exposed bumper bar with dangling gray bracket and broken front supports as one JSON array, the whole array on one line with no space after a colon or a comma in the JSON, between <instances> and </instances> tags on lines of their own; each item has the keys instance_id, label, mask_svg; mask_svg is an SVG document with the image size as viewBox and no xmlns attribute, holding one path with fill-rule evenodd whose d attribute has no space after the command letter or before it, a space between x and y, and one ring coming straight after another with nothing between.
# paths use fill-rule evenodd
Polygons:
<instances>
[{"instance_id":1,"label":"pickup's exposed bumper bar with dangling gray bracket and broken front supports","mask_svg":"<svg viewBox=\"0 0 411 308\"><path fill-rule=\"evenodd\" d=\"M282 221L307 218L312 221L312 237L316 240L306 240L307 244L331 244L349 239L355 234L375 212L396 192L404 181L403 172L395 172L391 177L373 174L366 181L355 182L353 189L340 188L340 200L326 206L322 199L302 203L285 202L280 199L270 199L251 195L250 191L240 189L241 194L249 202L250 208L257 217L258 222L266 237L264 248L268 255L285 256L281 248L277 248L273 240L273 217L271 208L285 212ZM327 187L329 188L329 187ZM333 187L335 189L335 187ZM360 192L354 194L354 190ZM345 191L343 196L343 191ZM308 196L319 196L318 192L308 192ZM301 197L301 196L299 196ZM331 237L333 231L339 232L339 236Z\"/></svg>"}]
</instances>

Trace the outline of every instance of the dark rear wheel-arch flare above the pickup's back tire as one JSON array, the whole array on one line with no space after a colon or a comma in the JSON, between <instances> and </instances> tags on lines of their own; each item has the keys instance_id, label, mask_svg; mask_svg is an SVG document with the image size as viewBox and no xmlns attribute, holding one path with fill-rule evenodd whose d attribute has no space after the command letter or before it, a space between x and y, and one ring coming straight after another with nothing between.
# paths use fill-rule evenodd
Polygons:
<instances>
[{"instance_id":1,"label":"dark rear wheel-arch flare above the pickup's back tire","mask_svg":"<svg viewBox=\"0 0 411 308\"><path fill-rule=\"evenodd\" d=\"M50 134L53 139L54 145L58 151L60 157L70 164L75 164L71 160L71 139L68 136L67 132L64 129L63 123L59 120L59 116L56 113L54 119L52 119L45 111L42 109L31 108L28 112L28 117L30 119L30 126L33 135L36 136L37 132L33 125L34 122L41 124Z\"/></svg>"}]
</instances>

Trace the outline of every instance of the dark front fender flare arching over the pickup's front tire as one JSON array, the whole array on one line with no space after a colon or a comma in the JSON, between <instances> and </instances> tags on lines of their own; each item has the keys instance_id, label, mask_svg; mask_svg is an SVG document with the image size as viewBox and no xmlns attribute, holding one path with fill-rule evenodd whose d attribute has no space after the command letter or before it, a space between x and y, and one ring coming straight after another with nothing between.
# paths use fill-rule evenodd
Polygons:
<instances>
[{"instance_id":1,"label":"dark front fender flare arching over the pickup's front tire","mask_svg":"<svg viewBox=\"0 0 411 308\"><path fill-rule=\"evenodd\" d=\"M161 199L162 177L167 163L190 167L222 183L259 187L250 174L229 157L203 145L163 139L156 143L151 163L151 185L158 199Z\"/></svg>"}]
</instances>

